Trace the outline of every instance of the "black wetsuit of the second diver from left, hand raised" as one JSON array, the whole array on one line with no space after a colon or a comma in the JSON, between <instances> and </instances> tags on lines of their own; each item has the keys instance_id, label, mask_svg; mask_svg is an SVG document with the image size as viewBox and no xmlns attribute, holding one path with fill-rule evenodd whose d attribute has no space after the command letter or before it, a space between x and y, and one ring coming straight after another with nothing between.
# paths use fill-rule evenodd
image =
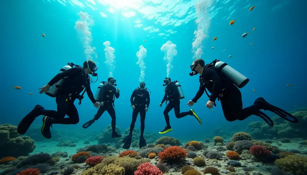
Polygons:
<instances>
[{"instance_id":1,"label":"black wetsuit of the second diver from left, hand raised","mask_svg":"<svg viewBox=\"0 0 307 175\"><path fill-rule=\"evenodd\" d=\"M116 126L116 116L115 116L115 110L113 107L114 101L113 97L119 98L119 93L117 93L116 88L114 86L110 86L108 83L104 84L99 92L99 101L103 101L103 106L100 106L97 114L95 115L94 119L98 120L103 112L107 111L111 116L111 125L112 125L112 131L115 133L115 126Z\"/></svg>"}]
</instances>

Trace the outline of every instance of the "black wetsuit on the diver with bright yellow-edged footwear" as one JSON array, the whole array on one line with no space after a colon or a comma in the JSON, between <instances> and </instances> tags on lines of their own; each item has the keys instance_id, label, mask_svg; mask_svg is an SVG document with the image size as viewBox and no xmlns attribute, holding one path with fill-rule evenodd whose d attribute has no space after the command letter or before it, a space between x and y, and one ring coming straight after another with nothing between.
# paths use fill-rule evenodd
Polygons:
<instances>
[{"instance_id":1,"label":"black wetsuit on the diver with bright yellow-edged footwear","mask_svg":"<svg viewBox=\"0 0 307 175\"><path fill-rule=\"evenodd\" d=\"M175 111L175 116L178 119L182 118L184 116L187 116L187 115L193 115L192 111L180 113L179 92L178 92L177 86L174 83L171 83L171 84L166 86L165 94L164 94L164 97L163 97L163 100L161 101L161 103L163 104L166 99L169 101L169 103L166 105L166 107L163 111L164 118L165 118L165 121L166 121L166 127L170 127L169 114L168 113L173 108L174 108L174 111Z\"/></svg>"}]
</instances>

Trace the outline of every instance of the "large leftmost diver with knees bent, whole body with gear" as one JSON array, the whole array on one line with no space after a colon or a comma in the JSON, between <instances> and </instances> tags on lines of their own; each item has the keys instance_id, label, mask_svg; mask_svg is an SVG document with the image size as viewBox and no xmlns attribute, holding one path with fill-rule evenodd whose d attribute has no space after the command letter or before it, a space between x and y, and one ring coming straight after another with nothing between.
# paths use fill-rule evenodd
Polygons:
<instances>
[{"instance_id":1,"label":"large leftmost diver with knees bent, whole body with gear","mask_svg":"<svg viewBox=\"0 0 307 175\"><path fill-rule=\"evenodd\" d=\"M95 101L91 91L90 83L92 80L88 75L97 76L97 73L95 73L98 69L96 63L92 60L87 60L83 63L83 67L73 63L68 63L68 65L64 66L47 85L39 88L40 94L46 93L51 97L56 97L57 111L47 110L41 105L36 105L19 123L17 128L19 134L25 134L34 119L40 115L44 116L41 133L47 139L50 139L52 136L50 132L52 124L77 124L79 122L79 114L74 101L79 99L80 105L85 92L87 92L87 96L94 106L96 108L99 107L99 103ZM85 90L80 95L83 89ZM65 115L68 118L65 118Z\"/></svg>"}]
</instances>

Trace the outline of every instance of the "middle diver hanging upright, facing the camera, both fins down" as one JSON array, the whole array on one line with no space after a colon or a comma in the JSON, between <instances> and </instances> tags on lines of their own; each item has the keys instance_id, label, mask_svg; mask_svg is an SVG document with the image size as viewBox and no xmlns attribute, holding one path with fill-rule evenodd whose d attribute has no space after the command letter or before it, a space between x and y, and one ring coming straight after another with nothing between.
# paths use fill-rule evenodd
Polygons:
<instances>
[{"instance_id":1,"label":"middle diver hanging upright, facing the camera, both fins down","mask_svg":"<svg viewBox=\"0 0 307 175\"><path fill-rule=\"evenodd\" d=\"M148 89L149 90L149 89ZM148 111L148 107L150 104L150 93L147 91L147 88L145 88L145 83L141 82L140 87L134 89L132 92L132 95L130 97L131 107L133 109L132 111L132 121L130 124L130 133L125 137L125 139L122 141L124 145L122 148L129 149L131 145L131 138L132 138L132 131L134 129L134 124L136 121L136 118L138 117L138 113L140 113L141 117L141 136L140 136L140 142L139 147L142 148L146 145L146 140L144 139L144 129L145 129L145 117L146 112Z\"/></svg>"}]
</instances>

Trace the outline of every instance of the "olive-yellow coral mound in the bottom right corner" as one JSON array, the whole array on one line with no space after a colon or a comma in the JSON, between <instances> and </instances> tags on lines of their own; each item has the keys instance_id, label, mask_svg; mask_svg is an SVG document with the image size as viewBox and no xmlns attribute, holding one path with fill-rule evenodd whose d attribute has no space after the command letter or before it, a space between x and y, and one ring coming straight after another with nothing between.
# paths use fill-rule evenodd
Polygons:
<instances>
[{"instance_id":1,"label":"olive-yellow coral mound in the bottom right corner","mask_svg":"<svg viewBox=\"0 0 307 175\"><path fill-rule=\"evenodd\" d=\"M294 175L306 175L307 174L307 157L299 155L289 155L285 158L277 159L276 165Z\"/></svg>"}]
</instances>

